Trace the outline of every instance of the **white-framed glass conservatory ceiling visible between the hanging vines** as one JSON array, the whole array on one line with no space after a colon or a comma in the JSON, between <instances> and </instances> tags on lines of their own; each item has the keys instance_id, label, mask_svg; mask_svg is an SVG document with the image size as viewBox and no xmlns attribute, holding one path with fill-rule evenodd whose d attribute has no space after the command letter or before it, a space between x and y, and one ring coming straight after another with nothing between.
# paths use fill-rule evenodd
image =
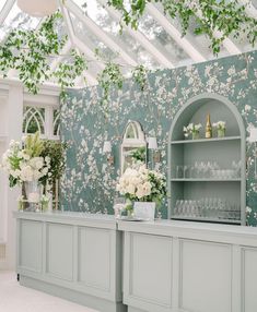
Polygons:
<instances>
[{"instance_id":1,"label":"white-framed glass conservatory ceiling visible between the hanging vines","mask_svg":"<svg viewBox=\"0 0 257 312\"><path fill-rule=\"evenodd\" d=\"M242 0L244 1L244 0ZM138 31L130 26L119 34L120 14L106 5L107 0L90 0L84 8L85 0L60 1L60 11L65 23L60 32L68 34L68 41L58 58L49 58L54 71L59 62L69 61L72 48L83 52L89 61L89 70L84 73L87 84L97 84L96 75L105 64L95 55L95 49L119 63L122 72L127 72L138 64L149 69L177 68L190 63L214 59L210 41L205 35L188 33L182 37L178 23L163 15L157 3L149 3L147 13L141 19ZM247 7L247 13L257 17L257 0ZM43 19L32 17L22 12L15 0L0 0L0 40L3 41L13 28L35 29ZM253 47L246 39L227 38L219 57L242 53ZM15 72L9 76L15 79ZM75 86L82 87L83 80L78 79Z\"/></svg>"}]
</instances>

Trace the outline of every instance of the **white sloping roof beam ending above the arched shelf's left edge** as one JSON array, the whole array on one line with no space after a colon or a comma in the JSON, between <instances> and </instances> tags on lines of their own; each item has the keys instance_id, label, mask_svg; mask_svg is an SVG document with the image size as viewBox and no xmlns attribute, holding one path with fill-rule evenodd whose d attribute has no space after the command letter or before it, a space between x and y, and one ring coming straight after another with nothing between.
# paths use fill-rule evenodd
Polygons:
<instances>
[{"instance_id":1,"label":"white sloping roof beam ending above the arched shelf's left edge","mask_svg":"<svg viewBox=\"0 0 257 312\"><path fill-rule=\"evenodd\" d=\"M117 22L120 21L121 15L106 4L105 0L97 0L105 9L109 12L113 19ZM137 41L141 44L141 46L163 67L165 68L174 68L174 64L171 62L168 58L166 58L159 48L156 48L140 31L133 31L131 27L126 26L126 31L128 34L133 37Z\"/></svg>"}]
</instances>

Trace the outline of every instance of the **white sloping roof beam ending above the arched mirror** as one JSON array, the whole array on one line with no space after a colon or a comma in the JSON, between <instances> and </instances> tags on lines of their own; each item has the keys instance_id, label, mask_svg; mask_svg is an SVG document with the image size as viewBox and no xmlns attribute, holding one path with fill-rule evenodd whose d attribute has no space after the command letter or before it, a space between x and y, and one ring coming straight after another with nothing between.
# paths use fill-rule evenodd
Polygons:
<instances>
[{"instance_id":1,"label":"white sloping roof beam ending above the arched mirror","mask_svg":"<svg viewBox=\"0 0 257 312\"><path fill-rule=\"evenodd\" d=\"M66 0L65 5L75 15L78 16L89 29L94 33L101 41L103 41L108 48L110 48L114 52L118 52L124 61L131 65L137 67L137 61L120 47L108 34L106 34L98 25L94 23L89 16L83 14L82 10L73 3L71 0Z\"/></svg>"}]
</instances>

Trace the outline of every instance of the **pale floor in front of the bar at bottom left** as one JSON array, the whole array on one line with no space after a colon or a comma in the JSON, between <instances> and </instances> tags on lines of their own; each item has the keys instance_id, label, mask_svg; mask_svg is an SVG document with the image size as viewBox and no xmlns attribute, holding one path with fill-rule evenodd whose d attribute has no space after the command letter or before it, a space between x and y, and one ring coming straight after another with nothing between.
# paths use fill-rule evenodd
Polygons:
<instances>
[{"instance_id":1,"label":"pale floor in front of the bar at bottom left","mask_svg":"<svg viewBox=\"0 0 257 312\"><path fill-rule=\"evenodd\" d=\"M20 286L15 273L0 271L0 312L97 312Z\"/></svg>"}]
</instances>

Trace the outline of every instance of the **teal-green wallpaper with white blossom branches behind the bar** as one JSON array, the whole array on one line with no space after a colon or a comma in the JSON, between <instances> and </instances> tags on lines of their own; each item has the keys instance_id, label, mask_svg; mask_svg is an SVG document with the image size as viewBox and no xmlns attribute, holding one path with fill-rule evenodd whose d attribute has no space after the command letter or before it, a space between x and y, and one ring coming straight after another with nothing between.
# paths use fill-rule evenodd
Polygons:
<instances>
[{"instance_id":1,"label":"teal-green wallpaper with white blossom branches behind the bar","mask_svg":"<svg viewBox=\"0 0 257 312\"><path fill-rule=\"evenodd\" d=\"M61 108L61 135L70 143L61 185L65 209L113 213L112 202L119 176L119 152L129 120L139 121L147 136L155 134L162 154L160 169L166 172L167 134L177 110L192 96L215 93L227 97L243 116L247 135L257 127L257 51L206 63L149 74L141 92L127 80L122 91L113 89L106 117L98 87L70 91ZM113 144L115 166L102 147ZM257 179L254 146L247 144L247 221L257 226ZM151 157L150 157L151 158ZM151 164L150 164L151 165ZM166 203L162 217L166 218Z\"/></svg>"}]
</instances>

